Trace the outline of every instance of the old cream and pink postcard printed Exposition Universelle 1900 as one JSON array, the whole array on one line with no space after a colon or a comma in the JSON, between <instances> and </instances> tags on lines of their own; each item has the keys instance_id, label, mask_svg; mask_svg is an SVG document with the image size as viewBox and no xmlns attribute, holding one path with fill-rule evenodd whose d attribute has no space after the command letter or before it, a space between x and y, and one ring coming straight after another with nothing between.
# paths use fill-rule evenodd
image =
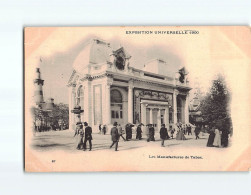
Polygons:
<instances>
[{"instance_id":1,"label":"old cream and pink postcard printed Exposition Universelle 1900","mask_svg":"<svg viewBox=\"0 0 251 195\"><path fill-rule=\"evenodd\" d=\"M249 171L248 26L24 28L27 172Z\"/></svg>"}]
</instances>

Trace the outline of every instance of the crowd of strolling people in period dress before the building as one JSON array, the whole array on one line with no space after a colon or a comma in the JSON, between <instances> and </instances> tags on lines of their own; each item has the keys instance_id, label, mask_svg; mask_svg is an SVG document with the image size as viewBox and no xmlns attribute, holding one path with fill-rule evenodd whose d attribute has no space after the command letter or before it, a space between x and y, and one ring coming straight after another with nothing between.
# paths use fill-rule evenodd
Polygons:
<instances>
[{"instance_id":1,"label":"crowd of strolling people in period dress before the building","mask_svg":"<svg viewBox=\"0 0 251 195\"><path fill-rule=\"evenodd\" d=\"M84 124L84 125L83 125ZM142 126L144 124L140 123L137 125L136 129L136 139L142 140ZM110 148L115 145L115 151L118 151L118 142L121 139L124 141L132 140L133 128L135 125L128 123L123 128L121 124L114 122L113 127L110 130L112 144ZM186 135L193 135L192 128L194 128L195 139L200 139L199 134L202 130L202 126L192 126L191 124L181 124L177 123L176 125L170 125L169 130L167 130L165 124L161 125L159 130L160 139L161 139L161 147L165 147L165 140L174 139L174 134L176 133L176 140L186 140ZM125 129L125 130L124 130ZM107 132L106 125L99 125L99 133L105 135ZM168 134L170 133L170 136ZM227 147L228 146L228 136L229 131L227 130L219 130L217 128L211 128L208 130L209 138L207 142L208 147ZM124 137L125 134L125 137ZM146 140L147 142L155 141L155 129L153 124L146 125ZM81 123L78 122L76 125L76 131L74 137L78 137L77 149L84 151L86 150L86 144L89 142L89 150L92 150L92 128L88 125L87 122Z\"/></svg>"}]
</instances>

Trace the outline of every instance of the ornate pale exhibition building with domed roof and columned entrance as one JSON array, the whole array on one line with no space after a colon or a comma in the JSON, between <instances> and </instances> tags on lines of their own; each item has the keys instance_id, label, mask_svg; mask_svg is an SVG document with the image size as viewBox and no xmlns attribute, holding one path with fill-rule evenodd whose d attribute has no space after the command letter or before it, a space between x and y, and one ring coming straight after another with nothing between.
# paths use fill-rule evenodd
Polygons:
<instances>
[{"instance_id":1,"label":"ornate pale exhibition building with domed roof and columned entrance","mask_svg":"<svg viewBox=\"0 0 251 195\"><path fill-rule=\"evenodd\" d=\"M69 128L77 117L71 110L79 105L81 121L93 129L113 122L154 124L189 123L189 82L185 69L154 59L137 69L131 55L121 47L93 39L73 63L69 88Z\"/></svg>"}]
</instances>

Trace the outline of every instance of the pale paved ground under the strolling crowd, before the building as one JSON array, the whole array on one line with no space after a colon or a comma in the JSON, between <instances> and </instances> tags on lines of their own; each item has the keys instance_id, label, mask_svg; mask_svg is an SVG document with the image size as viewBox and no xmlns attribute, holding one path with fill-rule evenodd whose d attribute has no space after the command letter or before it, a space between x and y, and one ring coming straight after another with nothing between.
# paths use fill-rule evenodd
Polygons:
<instances>
[{"instance_id":1,"label":"pale paved ground under the strolling crowd, before the building","mask_svg":"<svg viewBox=\"0 0 251 195\"><path fill-rule=\"evenodd\" d=\"M48 132L40 132L36 133L34 136L34 140L32 142L32 146L34 149L40 151L48 151L48 150L76 150L77 146L77 138L73 137L74 132L69 130L63 131L48 131ZM125 135L124 135L125 137ZM123 141L120 138L119 142L119 150L134 150L137 148L141 148L144 146L153 146L153 147L160 147L160 138L159 134L156 133L155 135L155 142L147 142L146 135L143 134L142 140L136 140L136 135L133 134L133 139L131 141ZM193 135L186 135L187 140L176 140L176 139L169 139L165 141L166 147L176 148L176 147L198 147L198 148L205 148L207 143L208 134L200 134L200 139L195 140L195 136ZM111 136L107 135L100 135L97 133L93 133L93 151L98 150L110 150L109 146L111 144ZM89 147L87 143L87 148Z\"/></svg>"}]
</instances>

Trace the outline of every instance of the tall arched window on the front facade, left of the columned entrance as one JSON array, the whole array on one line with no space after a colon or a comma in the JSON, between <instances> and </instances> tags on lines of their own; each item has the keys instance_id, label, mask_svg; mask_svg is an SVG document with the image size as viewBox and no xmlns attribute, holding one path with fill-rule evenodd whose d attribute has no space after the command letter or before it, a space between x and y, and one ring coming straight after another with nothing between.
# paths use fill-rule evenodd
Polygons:
<instances>
[{"instance_id":1,"label":"tall arched window on the front facade, left of the columned entrance","mask_svg":"<svg viewBox=\"0 0 251 195\"><path fill-rule=\"evenodd\" d=\"M119 90L111 90L111 118L122 119L123 118L123 102L122 95Z\"/></svg>"}]
</instances>

